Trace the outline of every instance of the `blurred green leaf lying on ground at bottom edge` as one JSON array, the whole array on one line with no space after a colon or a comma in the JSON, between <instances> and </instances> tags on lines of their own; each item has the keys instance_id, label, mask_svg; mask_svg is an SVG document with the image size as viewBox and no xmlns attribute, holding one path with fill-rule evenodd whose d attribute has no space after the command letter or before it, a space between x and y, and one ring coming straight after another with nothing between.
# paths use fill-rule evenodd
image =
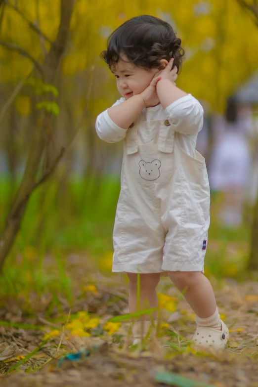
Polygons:
<instances>
[{"instance_id":1,"label":"blurred green leaf lying on ground at bottom edge","mask_svg":"<svg viewBox=\"0 0 258 387\"><path fill-rule=\"evenodd\" d=\"M183 376L167 371L157 372L155 375L155 380L156 382L176 387L215 387L214 385L208 385L203 382L196 382L195 380L184 378Z\"/></svg>"}]
</instances>

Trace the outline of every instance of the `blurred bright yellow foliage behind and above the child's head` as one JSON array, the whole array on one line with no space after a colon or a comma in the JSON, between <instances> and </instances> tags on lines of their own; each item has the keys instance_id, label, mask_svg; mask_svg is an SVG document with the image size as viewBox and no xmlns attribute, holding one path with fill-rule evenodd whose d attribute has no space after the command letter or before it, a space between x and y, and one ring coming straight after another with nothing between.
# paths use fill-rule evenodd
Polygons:
<instances>
[{"instance_id":1,"label":"blurred bright yellow foliage behind and above the child's head","mask_svg":"<svg viewBox=\"0 0 258 387\"><path fill-rule=\"evenodd\" d=\"M15 6L16 1L10 1ZM19 0L20 11L36 24L43 33L54 40L60 19L60 1L28 2ZM101 62L99 53L105 49L108 35L125 20L151 14L169 21L182 39L185 49L183 70L177 84L195 97L205 99L212 110L222 111L225 98L250 78L258 63L258 29L251 18L235 0L154 0L113 1L78 0L71 21L71 39L62 63L64 76L76 77L90 66L102 68L104 83L111 91L95 98L94 113L110 104L115 92L115 82ZM1 26L1 40L15 43L34 58L43 60L43 50L49 43L32 31L24 18L13 7L6 5ZM30 66L29 59L0 46L0 78L14 82L23 78ZM86 87L87 88L87 85ZM25 100L17 103L19 111L28 114Z\"/></svg>"}]
</instances>

